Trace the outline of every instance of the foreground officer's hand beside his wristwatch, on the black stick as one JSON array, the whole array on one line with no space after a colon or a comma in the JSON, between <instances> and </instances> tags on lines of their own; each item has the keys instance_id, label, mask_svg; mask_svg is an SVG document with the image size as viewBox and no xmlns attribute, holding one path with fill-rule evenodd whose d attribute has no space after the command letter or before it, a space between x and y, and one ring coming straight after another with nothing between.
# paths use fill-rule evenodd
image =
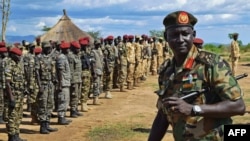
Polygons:
<instances>
[{"instance_id":1,"label":"foreground officer's hand beside his wristwatch, on the black stick","mask_svg":"<svg viewBox=\"0 0 250 141\"><path fill-rule=\"evenodd\" d=\"M186 101L178 97L168 97L162 100L162 103L167 108L170 108L173 112L179 112L183 115L191 115L193 105L188 104Z\"/></svg>"}]
</instances>

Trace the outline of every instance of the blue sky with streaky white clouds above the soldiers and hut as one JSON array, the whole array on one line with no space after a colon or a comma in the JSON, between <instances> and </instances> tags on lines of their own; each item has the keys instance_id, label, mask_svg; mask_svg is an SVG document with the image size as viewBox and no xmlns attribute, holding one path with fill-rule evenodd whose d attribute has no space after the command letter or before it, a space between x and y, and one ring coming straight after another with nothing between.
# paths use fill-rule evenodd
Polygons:
<instances>
[{"instance_id":1,"label":"blue sky with streaky white clouds above the soldiers and hut","mask_svg":"<svg viewBox=\"0 0 250 141\"><path fill-rule=\"evenodd\" d=\"M102 37L149 35L164 30L164 17L184 10L197 17L196 37L205 43L228 44L229 33L250 43L250 0L11 0L7 35L42 35L63 15L83 31L100 31Z\"/></svg>"}]
</instances>

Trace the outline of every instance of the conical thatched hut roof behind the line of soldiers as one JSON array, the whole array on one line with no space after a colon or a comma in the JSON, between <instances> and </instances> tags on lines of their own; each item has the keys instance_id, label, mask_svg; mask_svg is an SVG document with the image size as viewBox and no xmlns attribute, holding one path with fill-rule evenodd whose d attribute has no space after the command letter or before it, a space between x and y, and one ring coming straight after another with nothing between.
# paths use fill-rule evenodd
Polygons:
<instances>
[{"instance_id":1,"label":"conical thatched hut roof behind the line of soldiers","mask_svg":"<svg viewBox=\"0 0 250 141\"><path fill-rule=\"evenodd\" d=\"M90 42L94 39L88 33L78 28L68 17L66 10L63 9L63 16L48 32L40 36L41 41L78 41L80 38L89 37Z\"/></svg>"}]
</instances>

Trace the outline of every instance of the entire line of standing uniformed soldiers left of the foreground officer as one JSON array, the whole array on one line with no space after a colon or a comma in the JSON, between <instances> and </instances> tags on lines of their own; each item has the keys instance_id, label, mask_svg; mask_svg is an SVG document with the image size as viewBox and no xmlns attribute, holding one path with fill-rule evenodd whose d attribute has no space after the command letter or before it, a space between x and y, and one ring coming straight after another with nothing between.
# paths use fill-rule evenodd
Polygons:
<instances>
[{"instance_id":1,"label":"entire line of standing uniformed soldiers left of the foreground officer","mask_svg":"<svg viewBox=\"0 0 250 141\"><path fill-rule=\"evenodd\" d=\"M22 140L19 126L25 94L27 107L31 110L31 123L40 123L40 133L49 134L57 131L50 127L53 110L57 111L58 124L69 124L72 120L65 118L68 107L71 117L82 116L78 103L81 111L88 111L90 94L93 104L98 105L103 91L105 98L110 99L113 88L124 92L127 83L131 90L141 80L146 80L150 72L156 75L163 57L170 57L162 38L156 41L146 35L124 35L123 39L108 36L104 40L95 40L93 46L88 38L70 43L40 43L37 40L36 44L23 43L22 46L17 43L6 48L5 43L1 43L0 46L1 92L4 96L1 100L5 99L0 118L6 122L9 140ZM10 87L6 88L7 84Z\"/></svg>"}]
</instances>

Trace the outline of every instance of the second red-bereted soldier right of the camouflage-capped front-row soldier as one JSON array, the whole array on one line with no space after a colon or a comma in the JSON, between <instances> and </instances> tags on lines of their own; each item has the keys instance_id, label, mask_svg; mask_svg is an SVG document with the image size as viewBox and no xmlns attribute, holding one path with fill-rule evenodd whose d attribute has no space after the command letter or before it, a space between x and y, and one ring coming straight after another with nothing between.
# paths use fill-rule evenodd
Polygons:
<instances>
[{"instance_id":1,"label":"second red-bereted soldier right of the camouflage-capped front-row soldier","mask_svg":"<svg viewBox=\"0 0 250 141\"><path fill-rule=\"evenodd\" d=\"M71 72L70 86L70 117L83 116L78 112L79 96L81 96L82 62L80 59L80 44L78 41L71 42L71 53L67 55Z\"/></svg>"}]
</instances>

